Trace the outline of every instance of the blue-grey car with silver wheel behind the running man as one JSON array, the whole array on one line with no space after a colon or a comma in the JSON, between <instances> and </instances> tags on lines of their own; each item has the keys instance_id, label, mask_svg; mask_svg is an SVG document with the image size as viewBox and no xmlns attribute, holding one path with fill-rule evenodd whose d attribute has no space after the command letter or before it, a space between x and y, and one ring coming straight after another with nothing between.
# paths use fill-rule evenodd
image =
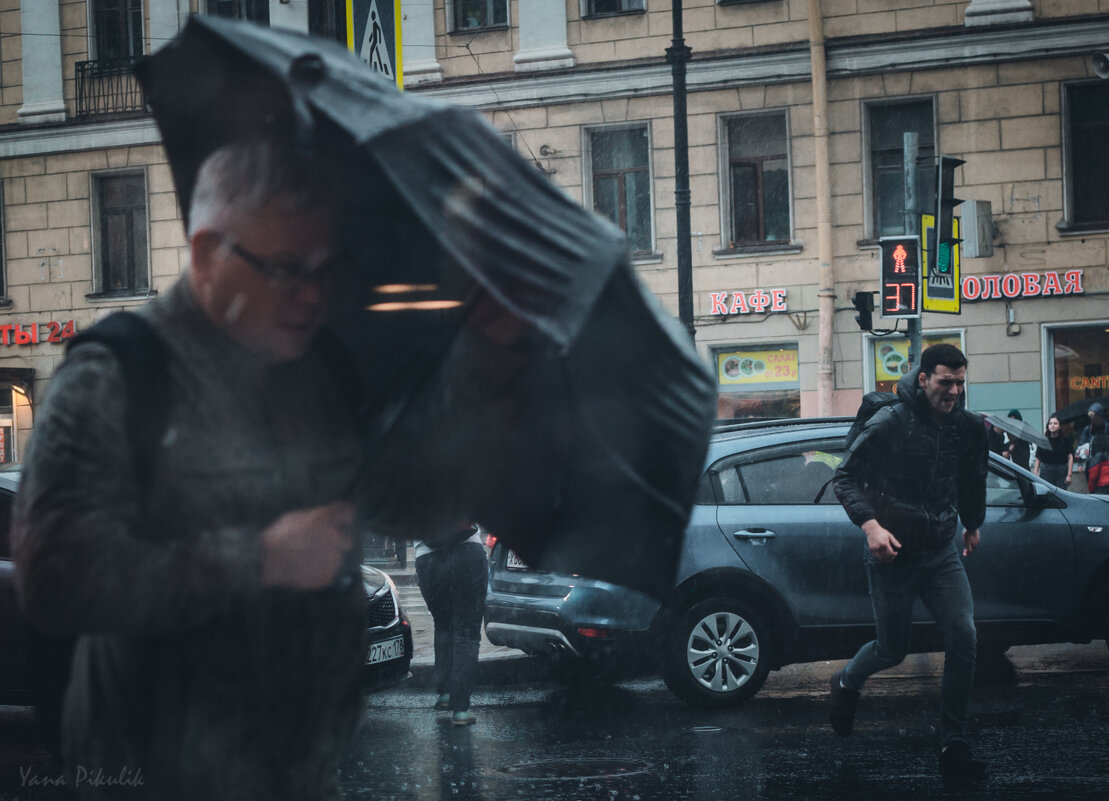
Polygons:
<instances>
[{"instance_id":1,"label":"blue-grey car with silver wheel behind the running man","mask_svg":"<svg viewBox=\"0 0 1109 801\"><path fill-rule=\"evenodd\" d=\"M658 670L704 707L751 698L785 665L851 657L874 625L865 538L830 486L849 425L776 420L714 434L662 602L531 570L498 545L489 641L579 675ZM965 562L979 653L1106 637L1109 498L1057 489L994 454L986 497L981 545ZM919 602L915 615L914 650L942 650Z\"/></svg>"}]
</instances>

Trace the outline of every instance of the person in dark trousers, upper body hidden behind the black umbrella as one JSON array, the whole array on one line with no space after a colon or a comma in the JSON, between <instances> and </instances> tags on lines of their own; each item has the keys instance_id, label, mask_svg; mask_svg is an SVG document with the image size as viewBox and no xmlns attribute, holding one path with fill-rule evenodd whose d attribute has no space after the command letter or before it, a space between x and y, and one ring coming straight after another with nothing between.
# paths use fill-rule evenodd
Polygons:
<instances>
[{"instance_id":1,"label":"person in dark trousers, upper body hidden behind the black umbrella","mask_svg":"<svg viewBox=\"0 0 1109 801\"><path fill-rule=\"evenodd\" d=\"M466 527L454 543L416 543L416 580L435 623L435 702L450 711L455 726L477 720L470 693L477 679L481 618L485 617L489 567L481 535Z\"/></svg>"}]
</instances>

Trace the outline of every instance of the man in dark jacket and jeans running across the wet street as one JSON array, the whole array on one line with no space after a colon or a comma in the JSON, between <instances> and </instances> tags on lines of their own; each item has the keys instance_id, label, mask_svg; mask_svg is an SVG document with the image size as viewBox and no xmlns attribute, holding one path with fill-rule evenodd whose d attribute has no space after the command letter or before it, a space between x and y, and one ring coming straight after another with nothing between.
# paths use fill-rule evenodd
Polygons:
<instances>
[{"instance_id":1,"label":"man in dark jacket and jeans running across the wet street","mask_svg":"<svg viewBox=\"0 0 1109 801\"><path fill-rule=\"evenodd\" d=\"M940 770L985 772L967 742L977 651L974 604L960 556L986 518L986 429L964 409L967 359L953 345L927 348L897 384L899 403L878 409L836 470L836 497L866 535L877 638L832 677L830 718L852 731L866 679L908 652L913 606L924 600L947 643L940 690ZM956 543L956 526L963 536Z\"/></svg>"}]
</instances>

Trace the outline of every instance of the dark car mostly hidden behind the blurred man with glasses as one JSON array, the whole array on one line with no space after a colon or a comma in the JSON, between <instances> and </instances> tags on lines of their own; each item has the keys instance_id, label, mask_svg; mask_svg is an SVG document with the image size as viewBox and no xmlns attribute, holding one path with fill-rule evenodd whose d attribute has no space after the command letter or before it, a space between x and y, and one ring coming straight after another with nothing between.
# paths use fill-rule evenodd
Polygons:
<instances>
[{"instance_id":1,"label":"dark car mostly hidden behind the blurred man with glasses","mask_svg":"<svg viewBox=\"0 0 1109 801\"><path fill-rule=\"evenodd\" d=\"M11 506L19 470L0 470L0 703L31 701L23 622L16 601L10 548ZM366 626L366 688L380 690L408 677L413 631L400 606L396 585L386 574L364 565Z\"/></svg>"}]
</instances>

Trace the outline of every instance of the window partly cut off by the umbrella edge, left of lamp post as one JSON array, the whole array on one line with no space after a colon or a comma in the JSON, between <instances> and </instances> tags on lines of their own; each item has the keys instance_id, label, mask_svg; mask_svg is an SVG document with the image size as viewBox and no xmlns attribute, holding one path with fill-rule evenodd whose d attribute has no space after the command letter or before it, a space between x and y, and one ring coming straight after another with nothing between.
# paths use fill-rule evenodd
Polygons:
<instances>
[{"instance_id":1,"label":"window partly cut off by the umbrella edge, left of lamp post","mask_svg":"<svg viewBox=\"0 0 1109 801\"><path fill-rule=\"evenodd\" d=\"M647 125L588 131L593 211L628 234L633 254L651 252L651 168Z\"/></svg>"}]
</instances>

